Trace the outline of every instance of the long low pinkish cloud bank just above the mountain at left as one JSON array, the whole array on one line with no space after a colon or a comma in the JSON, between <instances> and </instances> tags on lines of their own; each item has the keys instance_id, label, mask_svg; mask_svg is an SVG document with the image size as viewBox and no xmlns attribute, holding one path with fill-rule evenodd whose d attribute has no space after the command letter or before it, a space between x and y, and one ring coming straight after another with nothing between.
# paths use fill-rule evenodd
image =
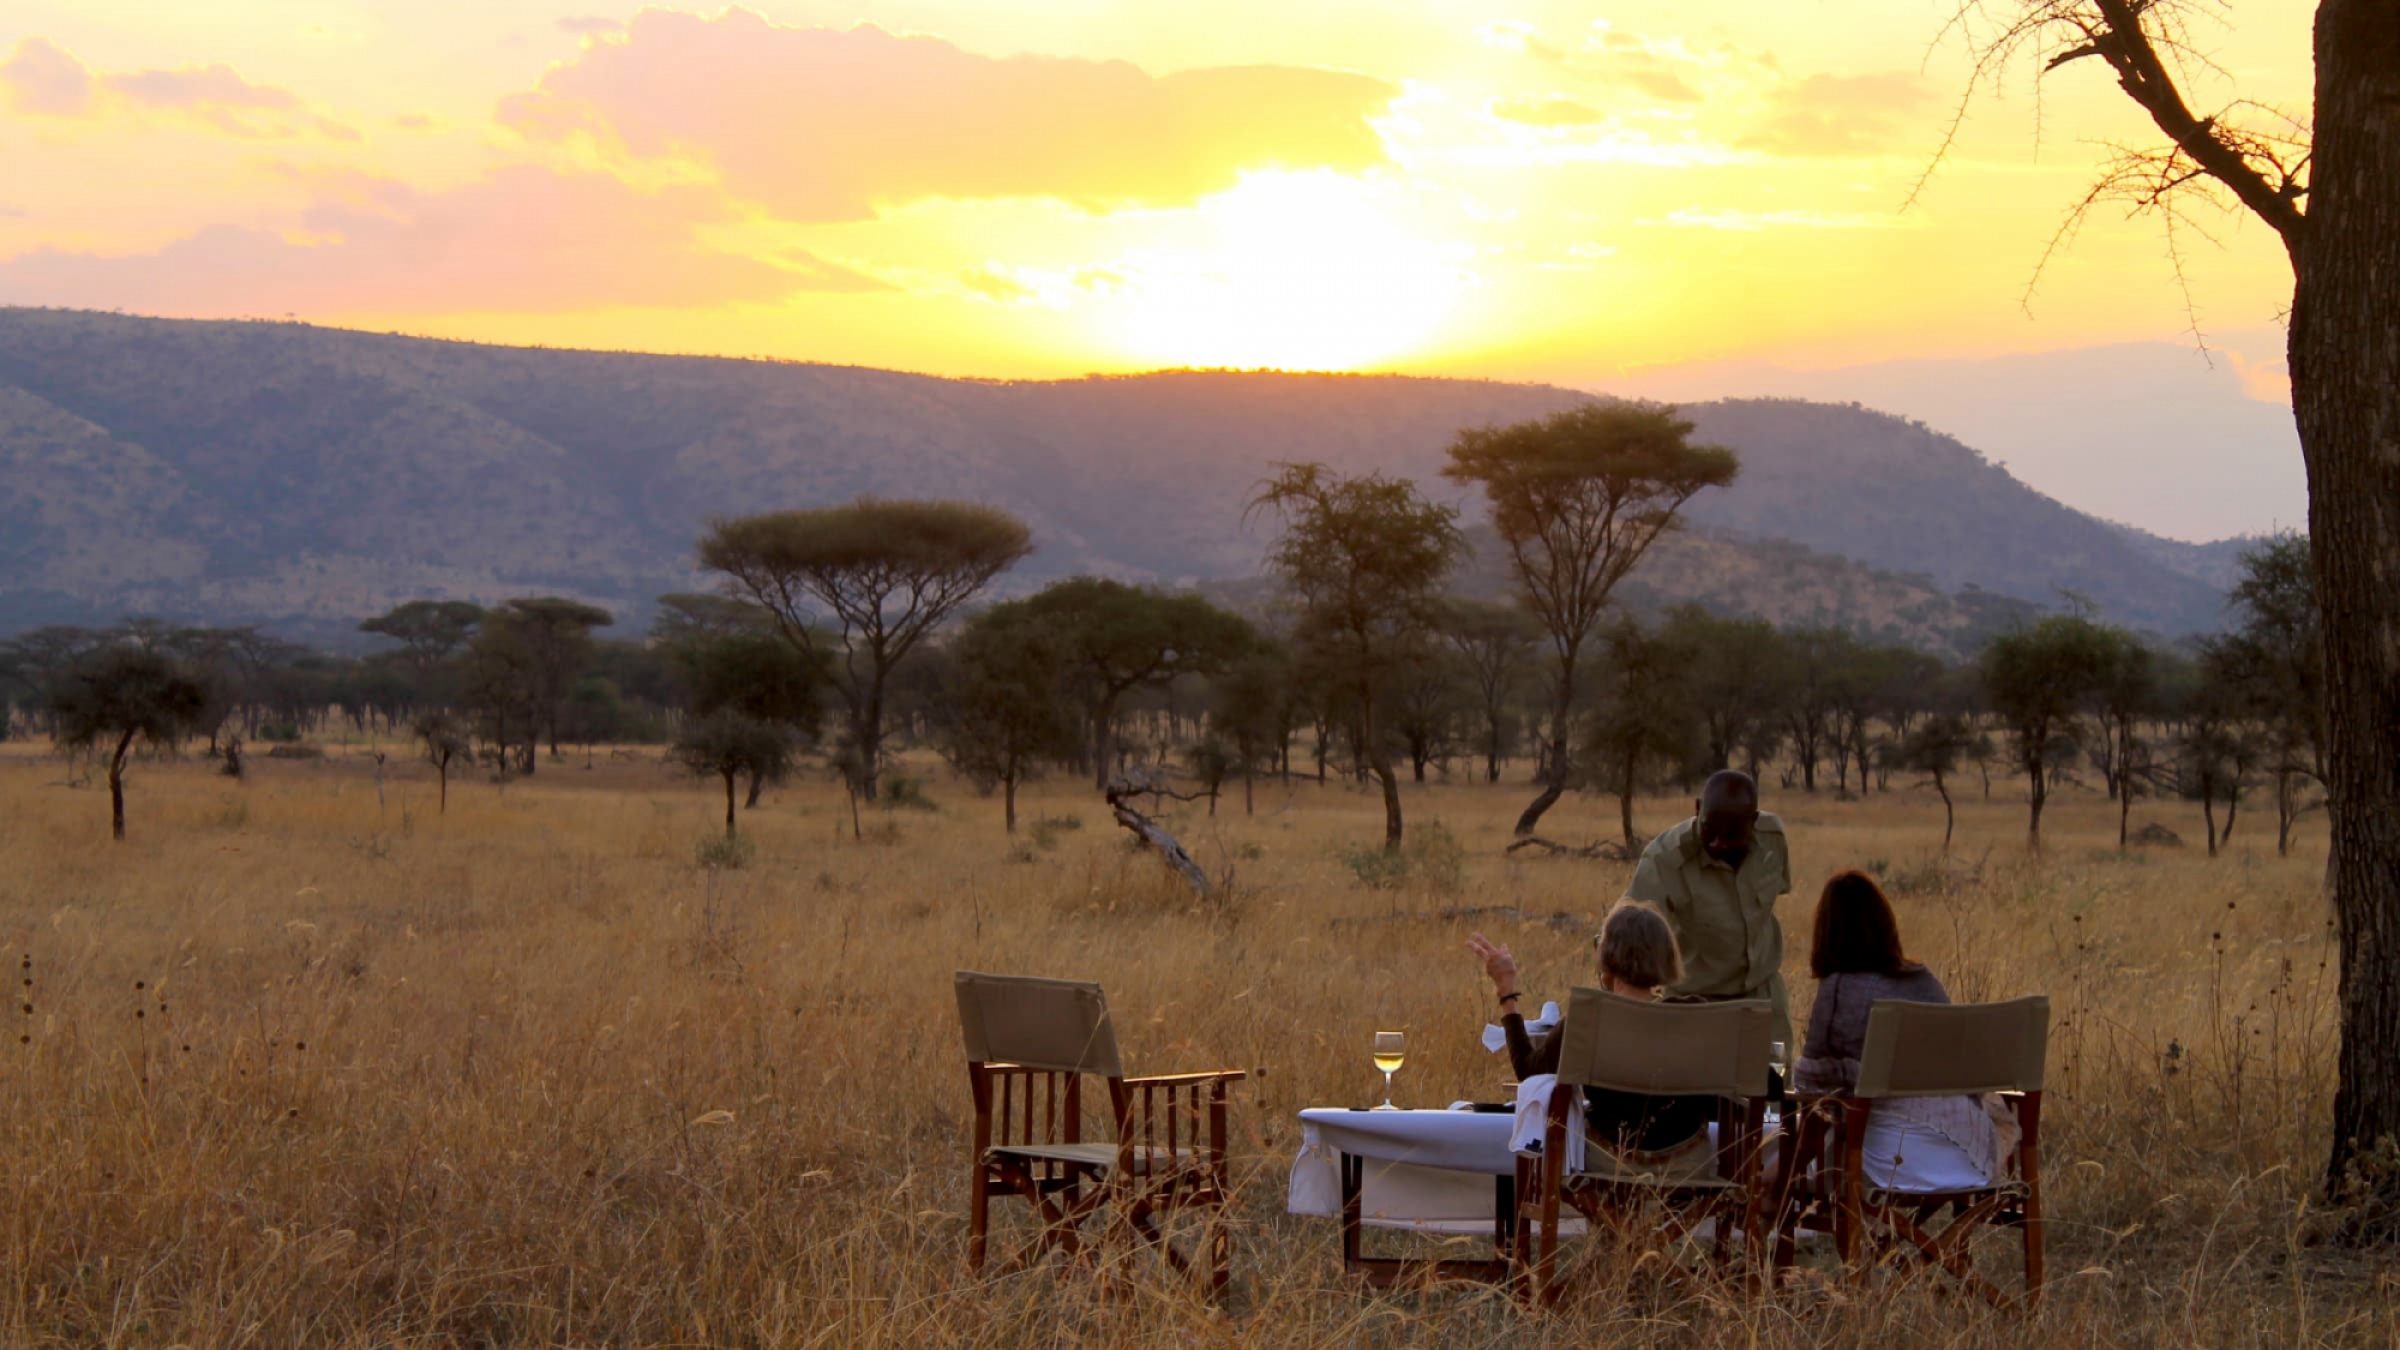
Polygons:
<instances>
[{"instance_id":1,"label":"long low pinkish cloud bank just above the mountain at left","mask_svg":"<svg viewBox=\"0 0 2400 1350\"><path fill-rule=\"evenodd\" d=\"M758 262L694 238L694 226L725 219L722 197L703 187L636 192L614 178L535 166L442 195L336 178L319 183L319 202L298 221L322 243L214 226L149 255L36 250L0 262L0 295L170 315L338 315L715 305L881 288L814 255Z\"/></svg>"}]
</instances>

